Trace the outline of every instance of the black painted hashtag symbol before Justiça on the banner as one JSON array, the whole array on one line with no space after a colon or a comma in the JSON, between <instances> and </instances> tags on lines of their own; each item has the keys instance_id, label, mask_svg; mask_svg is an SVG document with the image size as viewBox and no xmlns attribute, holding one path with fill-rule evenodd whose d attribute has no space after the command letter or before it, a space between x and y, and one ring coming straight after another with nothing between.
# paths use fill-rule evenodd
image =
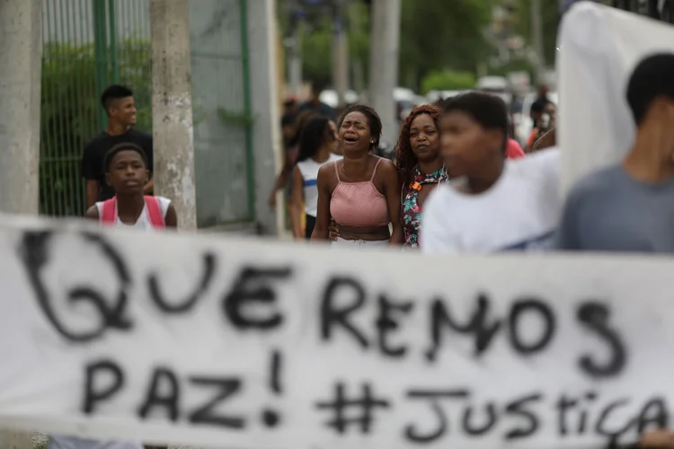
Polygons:
<instances>
[{"instance_id":1,"label":"black painted hashtag symbol before Justi\u00e7a on the banner","mask_svg":"<svg viewBox=\"0 0 674 449\"><path fill-rule=\"evenodd\" d=\"M346 432L347 427L352 425L360 425L360 431L363 434L368 434L374 419L373 411L377 408L388 409L390 407L388 401L374 398L372 389L367 383L362 385L362 393L359 399L348 400L343 383L337 383L334 396L332 402L318 402L316 408L334 411L334 418L327 421L325 426L333 427L340 434ZM345 416L347 409L354 410L349 418Z\"/></svg>"}]
</instances>

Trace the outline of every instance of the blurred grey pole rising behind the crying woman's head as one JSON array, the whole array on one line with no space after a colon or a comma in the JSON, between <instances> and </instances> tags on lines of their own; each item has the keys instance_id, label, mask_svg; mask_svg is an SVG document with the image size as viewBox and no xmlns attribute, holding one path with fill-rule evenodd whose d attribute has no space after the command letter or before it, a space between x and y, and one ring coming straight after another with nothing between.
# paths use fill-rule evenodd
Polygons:
<instances>
[{"instance_id":1,"label":"blurred grey pole rising behind the crying woman's head","mask_svg":"<svg viewBox=\"0 0 674 449\"><path fill-rule=\"evenodd\" d=\"M393 97L398 83L400 5L401 0L372 0L368 96L381 116L389 145L395 144L400 131Z\"/></svg>"}]
</instances>

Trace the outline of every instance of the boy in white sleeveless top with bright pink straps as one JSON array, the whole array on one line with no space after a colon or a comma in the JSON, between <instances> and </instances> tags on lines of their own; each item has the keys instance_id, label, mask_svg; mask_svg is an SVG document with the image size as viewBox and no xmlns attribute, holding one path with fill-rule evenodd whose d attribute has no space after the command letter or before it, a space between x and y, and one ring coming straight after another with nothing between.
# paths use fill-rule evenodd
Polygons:
<instances>
[{"instance_id":1,"label":"boy in white sleeveless top with bright pink straps","mask_svg":"<svg viewBox=\"0 0 674 449\"><path fill-rule=\"evenodd\" d=\"M102 225L130 227L146 231L175 228L178 218L171 200L149 197L143 187L149 179L143 149L135 144L113 146L104 158L105 178L115 197L100 201L86 211L86 217ZM48 449L150 449L155 446L133 441L100 441L75 436L49 436ZM160 449L160 448L156 448Z\"/></svg>"}]
</instances>

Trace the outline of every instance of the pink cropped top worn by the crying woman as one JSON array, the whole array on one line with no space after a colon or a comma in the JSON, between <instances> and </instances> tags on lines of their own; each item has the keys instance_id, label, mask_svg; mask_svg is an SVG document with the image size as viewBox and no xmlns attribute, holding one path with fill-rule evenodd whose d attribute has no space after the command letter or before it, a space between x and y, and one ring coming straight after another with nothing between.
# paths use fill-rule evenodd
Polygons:
<instances>
[{"instance_id":1,"label":"pink cropped top worn by the crying woman","mask_svg":"<svg viewBox=\"0 0 674 449\"><path fill-rule=\"evenodd\" d=\"M375 187L375 174L382 159L377 161L370 180L341 182L337 163L337 187L330 198L330 215L337 224L352 227L387 226L389 220L386 197Z\"/></svg>"}]
</instances>

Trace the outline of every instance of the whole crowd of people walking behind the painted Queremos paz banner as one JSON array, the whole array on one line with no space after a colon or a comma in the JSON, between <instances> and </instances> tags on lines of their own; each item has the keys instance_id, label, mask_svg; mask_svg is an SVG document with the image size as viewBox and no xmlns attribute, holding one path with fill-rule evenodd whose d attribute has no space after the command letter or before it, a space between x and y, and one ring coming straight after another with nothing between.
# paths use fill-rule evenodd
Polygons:
<instances>
[{"instance_id":1,"label":"whole crowd of people walking behind the painted Queremos paz banner","mask_svg":"<svg viewBox=\"0 0 674 449\"><path fill-rule=\"evenodd\" d=\"M367 105L336 117L319 89L282 119L286 160L274 189L286 189L297 240L333 246L400 247L425 254L495 251L674 252L674 55L646 57L625 92L637 134L625 160L559 190L555 107L537 101L527 152L512 139L508 108L467 92L413 109L395 161L377 155L382 121ZM84 149L86 217L102 225L177 227L169 198L155 197L152 137L133 128L133 93L102 93L109 125ZM644 436L667 446L670 433ZM50 449L115 447L54 436ZM148 446L146 446L148 447Z\"/></svg>"}]
</instances>

